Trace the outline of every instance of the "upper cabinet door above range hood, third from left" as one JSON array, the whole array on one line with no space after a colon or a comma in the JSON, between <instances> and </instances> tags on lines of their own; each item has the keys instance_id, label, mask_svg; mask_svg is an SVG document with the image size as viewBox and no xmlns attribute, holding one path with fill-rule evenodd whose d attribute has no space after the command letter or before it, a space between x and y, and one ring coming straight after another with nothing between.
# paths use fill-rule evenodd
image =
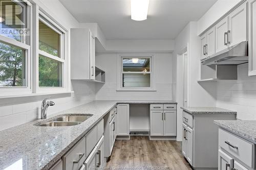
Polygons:
<instances>
[{"instance_id":1,"label":"upper cabinet door above range hood, third from left","mask_svg":"<svg viewBox=\"0 0 256 170\"><path fill-rule=\"evenodd\" d=\"M228 18L223 18L220 22L217 23L216 27L216 53L227 48L227 31L228 31Z\"/></svg>"}]
</instances>

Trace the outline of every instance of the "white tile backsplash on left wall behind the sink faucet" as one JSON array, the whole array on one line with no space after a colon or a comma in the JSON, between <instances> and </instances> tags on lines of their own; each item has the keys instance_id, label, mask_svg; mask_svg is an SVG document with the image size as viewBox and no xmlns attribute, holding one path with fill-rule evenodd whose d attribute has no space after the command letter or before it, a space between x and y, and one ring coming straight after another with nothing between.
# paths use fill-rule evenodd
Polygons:
<instances>
[{"instance_id":1,"label":"white tile backsplash on left wall behind the sink faucet","mask_svg":"<svg viewBox=\"0 0 256 170\"><path fill-rule=\"evenodd\" d=\"M48 115L95 100L94 83L72 81L72 86L74 90L72 96L52 99L55 105L48 108ZM0 130L40 118L40 107L41 101L0 107Z\"/></svg>"}]
</instances>

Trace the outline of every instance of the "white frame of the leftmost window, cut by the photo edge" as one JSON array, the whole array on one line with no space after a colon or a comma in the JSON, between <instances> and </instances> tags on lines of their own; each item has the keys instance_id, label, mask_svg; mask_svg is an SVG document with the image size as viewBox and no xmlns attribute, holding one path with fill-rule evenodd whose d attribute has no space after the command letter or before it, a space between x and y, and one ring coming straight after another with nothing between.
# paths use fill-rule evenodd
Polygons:
<instances>
[{"instance_id":1,"label":"white frame of the leftmost window, cut by the photo edge","mask_svg":"<svg viewBox=\"0 0 256 170\"><path fill-rule=\"evenodd\" d=\"M14 1L15 2L15 1ZM17 46L25 50L26 61L25 61L25 71L26 71L26 85L25 86L0 86L1 95L10 95L10 94L26 94L32 92L31 86L31 51L32 51L32 4L26 0L23 0L27 7L27 28L30 30L29 36L26 38L22 38L22 42L16 41L12 38L0 35L0 42L5 44ZM20 6L24 6L23 4L19 4ZM26 42L24 40L26 39Z\"/></svg>"}]
</instances>

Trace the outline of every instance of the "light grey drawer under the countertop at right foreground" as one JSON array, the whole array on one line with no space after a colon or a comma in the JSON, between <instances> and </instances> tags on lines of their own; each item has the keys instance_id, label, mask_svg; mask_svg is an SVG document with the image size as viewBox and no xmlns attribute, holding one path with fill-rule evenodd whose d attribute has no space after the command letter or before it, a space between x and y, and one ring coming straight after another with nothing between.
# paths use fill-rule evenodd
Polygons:
<instances>
[{"instance_id":1,"label":"light grey drawer under the countertop at right foreground","mask_svg":"<svg viewBox=\"0 0 256 170\"><path fill-rule=\"evenodd\" d=\"M254 145L252 143L219 129L219 145L246 165L253 167Z\"/></svg>"}]
</instances>

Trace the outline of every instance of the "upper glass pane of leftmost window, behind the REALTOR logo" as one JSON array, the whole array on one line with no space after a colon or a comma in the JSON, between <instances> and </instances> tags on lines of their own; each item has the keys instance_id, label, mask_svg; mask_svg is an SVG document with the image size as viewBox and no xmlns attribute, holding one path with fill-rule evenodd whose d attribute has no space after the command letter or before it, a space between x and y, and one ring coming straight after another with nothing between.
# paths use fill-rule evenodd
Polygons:
<instances>
[{"instance_id":1,"label":"upper glass pane of leftmost window, behind the REALTOR logo","mask_svg":"<svg viewBox=\"0 0 256 170\"><path fill-rule=\"evenodd\" d=\"M23 42L28 35L27 9L23 2L0 1L0 34Z\"/></svg>"}]
</instances>

